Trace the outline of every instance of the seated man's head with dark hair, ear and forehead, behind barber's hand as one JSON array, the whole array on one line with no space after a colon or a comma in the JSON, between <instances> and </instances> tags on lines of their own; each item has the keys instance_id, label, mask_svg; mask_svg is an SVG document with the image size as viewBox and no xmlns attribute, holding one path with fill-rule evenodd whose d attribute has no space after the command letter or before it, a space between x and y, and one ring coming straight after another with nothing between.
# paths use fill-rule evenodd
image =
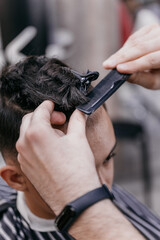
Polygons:
<instances>
[{"instance_id":1,"label":"seated man's head with dark hair, ear and forehead, behind barber's hand","mask_svg":"<svg viewBox=\"0 0 160 240\"><path fill-rule=\"evenodd\" d=\"M79 78L68 66L57 59L29 57L2 72L0 79L0 151L7 166L1 170L1 176L10 186L26 193L27 199L30 199L29 205L32 205L31 202L35 199L30 192L33 193L35 190L20 170L15 148L22 117L32 112L44 100L50 99L55 103L55 110L64 112L69 119L75 107L87 101L80 88ZM111 185L112 177L108 176L113 175L113 166L111 162L105 162L105 158L113 147L115 139L112 124L104 108L99 108L88 118L87 138L95 155L101 180L106 181L102 175L105 169L109 169L107 181ZM34 208L36 204L37 200Z\"/></svg>"}]
</instances>

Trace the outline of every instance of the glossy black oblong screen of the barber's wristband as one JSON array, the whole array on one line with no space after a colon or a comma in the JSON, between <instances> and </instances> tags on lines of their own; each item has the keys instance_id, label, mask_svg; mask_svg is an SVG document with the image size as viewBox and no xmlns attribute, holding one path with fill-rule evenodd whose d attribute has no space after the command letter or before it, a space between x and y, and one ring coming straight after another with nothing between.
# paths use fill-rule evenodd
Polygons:
<instances>
[{"instance_id":1,"label":"glossy black oblong screen of the barber's wristband","mask_svg":"<svg viewBox=\"0 0 160 240\"><path fill-rule=\"evenodd\" d=\"M71 206L66 206L57 216L55 224L60 231L66 231L75 220L76 211Z\"/></svg>"}]
</instances>

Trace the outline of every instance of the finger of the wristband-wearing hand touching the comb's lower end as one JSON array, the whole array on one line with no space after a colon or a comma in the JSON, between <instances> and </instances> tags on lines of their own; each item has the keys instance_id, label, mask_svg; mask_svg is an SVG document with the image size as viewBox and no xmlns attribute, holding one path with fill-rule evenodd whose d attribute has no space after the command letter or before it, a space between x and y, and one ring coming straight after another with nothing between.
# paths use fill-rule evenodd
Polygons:
<instances>
[{"instance_id":1,"label":"finger of the wristband-wearing hand touching the comb's lower end","mask_svg":"<svg viewBox=\"0 0 160 240\"><path fill-rule=\"evenodd\" d=\"M67 134L76 133L79 136L84 136L86 133L86 120L87 116L76 109L69 120Z\"/></svg>"}]
</instances>

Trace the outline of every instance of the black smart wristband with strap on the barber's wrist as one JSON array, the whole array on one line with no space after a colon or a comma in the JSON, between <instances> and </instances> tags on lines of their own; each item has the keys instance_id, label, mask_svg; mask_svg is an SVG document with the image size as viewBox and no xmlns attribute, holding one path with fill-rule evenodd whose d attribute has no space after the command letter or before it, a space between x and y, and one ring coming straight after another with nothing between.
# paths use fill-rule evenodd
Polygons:
<instances>
[{"instance_id":1,"label":"black smart wristband with strap on the barber's wrist","mask_svg":"<svg viewBox=\"0 0 160 240\"><path fill-rule=\"evenodd\" d=\"M85 209L103 199L114 199L113 194L105 184L67 204L56 217L55 224L58 230L60 232L67 231Z\"/></svg>"}]
</instances>

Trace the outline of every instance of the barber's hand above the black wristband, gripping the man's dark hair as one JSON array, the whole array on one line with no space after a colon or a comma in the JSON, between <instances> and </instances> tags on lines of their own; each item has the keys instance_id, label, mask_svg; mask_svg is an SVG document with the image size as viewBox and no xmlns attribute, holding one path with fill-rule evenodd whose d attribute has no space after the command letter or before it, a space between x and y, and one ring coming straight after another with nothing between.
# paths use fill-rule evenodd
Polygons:
<instances>
[{"instance_id":1,"label":"barber's hand above the black wristband, gripping the man's dark hair","mask_svg":"<svg viewBox=\"0 0 160 240\"><path fill-rule=\"evenodd\" d=\"M22 121L16 144L22 171L55 213L100 186L93 153L86 138L86 117L72 114L67 133L51 125L54 104L44 101ZM60 119L62 116L60 117Z\"/></svg>"}]
</instances>

